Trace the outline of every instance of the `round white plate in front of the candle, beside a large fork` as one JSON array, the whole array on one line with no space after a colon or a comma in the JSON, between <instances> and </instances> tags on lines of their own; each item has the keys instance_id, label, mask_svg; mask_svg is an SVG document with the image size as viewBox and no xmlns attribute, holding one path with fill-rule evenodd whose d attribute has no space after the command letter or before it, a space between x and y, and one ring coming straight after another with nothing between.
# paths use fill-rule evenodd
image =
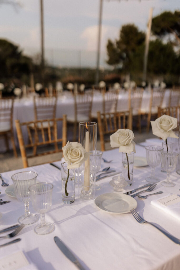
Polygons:
<instances>
[{"instance_id":1,"label":"round white plate in front of the candle, beside a large fork","mask_svg":"<svg viewBox=\"0 0 180 270\"><path fill-rule=\"evenodd\" d=\"M100 209L114 214L128 213L131 208L137 207L137 201L133 197L121 193L105 193L94 202Z\"/></svg>"}]
</instances>

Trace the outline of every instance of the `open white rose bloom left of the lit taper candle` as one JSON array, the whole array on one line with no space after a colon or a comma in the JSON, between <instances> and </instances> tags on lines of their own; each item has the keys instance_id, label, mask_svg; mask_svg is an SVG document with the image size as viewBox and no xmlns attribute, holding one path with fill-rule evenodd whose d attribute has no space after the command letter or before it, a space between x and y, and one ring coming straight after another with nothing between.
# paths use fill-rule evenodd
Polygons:
<instances>
[{"instance_id":1,"label":"open white rose bloom left of the lit taper candle","mask_svg":"<svg viewBox=\"0 0 180 270\"><path fill-rule=\"evenodd\" d=\"M70 143L68 141L66 146L62 147L62 150L64 159L69 164L68 169L79 168L89 157L89 153L86 152L82 144L77 142Z\"/></svg>"}]
</instances>

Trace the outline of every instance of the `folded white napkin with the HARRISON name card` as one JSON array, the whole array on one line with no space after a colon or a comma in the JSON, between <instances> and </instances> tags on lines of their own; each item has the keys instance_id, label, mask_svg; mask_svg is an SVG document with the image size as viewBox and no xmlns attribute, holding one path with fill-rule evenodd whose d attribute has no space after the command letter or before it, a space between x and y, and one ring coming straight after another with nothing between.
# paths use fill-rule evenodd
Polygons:
<instances>
[{"instance_id":1,"label":"folded white napkin with the HARRISON name card","mask_svg":"<svg viewBox=\"0 0 180 270\"><path fill-rule=\"evenodd\" d=\"M178 195L169 193L151 201L151 204L180 221L180 197Z\"/></svg>"}]
</instances>

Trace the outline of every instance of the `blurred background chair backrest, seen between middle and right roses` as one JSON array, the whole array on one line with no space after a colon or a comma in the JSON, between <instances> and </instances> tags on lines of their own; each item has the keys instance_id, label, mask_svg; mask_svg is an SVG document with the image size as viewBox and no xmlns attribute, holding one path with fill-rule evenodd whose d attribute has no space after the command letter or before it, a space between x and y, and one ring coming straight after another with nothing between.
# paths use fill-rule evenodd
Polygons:
<instances>
[{"instance_id":1,"label":"blurred background chair backrest, seen between middle and right roses","mask_svg":"<svg viewBox=\"0 0 180 270\"><path fill-rule=\"evenodd\" d=\"M143 95L144 89L136 89L131 90L131 109L133 110L133 115L138 114L138 112L141 110L141 104L142 104L142 95Z\"/></svg>"}]
</instances>

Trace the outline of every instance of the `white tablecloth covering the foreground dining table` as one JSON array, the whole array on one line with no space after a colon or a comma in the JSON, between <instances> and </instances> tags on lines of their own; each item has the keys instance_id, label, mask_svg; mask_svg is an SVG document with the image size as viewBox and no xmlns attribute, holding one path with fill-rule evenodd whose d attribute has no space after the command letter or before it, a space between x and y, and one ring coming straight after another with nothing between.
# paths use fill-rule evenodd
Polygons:
<instances>
[{"instance_id":1,"label":"white tablecloth covering the foreground dining table","mask_svg":"<svg viewBox=\"0 0 180 270\"><path fill-rule=\"evenodd\" d=\"M145 148L136 145L135 156L145 157ZM103 157L108 160L112 159L113 162L107 164L102 161L102 168L108 165L112 168L121 168L121 153L118 153L118 149L105 151ZM56 164L60 166L60 163L61 161ZM80 260L85 269L179 269L180 246L151 225L139 224L130 212L111 214L100 210L95 205L94 200L81 201L77 194L73 204L63 204L61 173L50 164L4 172L2 177L11 185L11 176L14 173L29 170L38 173L38 181L53 183L52 207L46 214L46 221L55 224L55 231L48 235L37 235L33 231L37 223L26 226L16 236L22 240L9 247L1 248L0 257L7 255L7 252L24 250L38 269L77 269L56 246L53 238L58 236ZM134 168L133 184L122 193L147 184L145 177L149 174L149 166ZM166 173L161 172L160 165L156 168L156 175L160 180L164 180L166 177ZM113 187L109 185L111 179L112 176L97 182L101 188L96 191L96 197L100 194L114 192ZM154 192L163 191L163 194L150 196L146 200L135 197L138 204L136 210L146 220L154 222L160 228L164 228L165 231L180 239L179 221L150 204L151 200L169 193L180 196L180 180L175 171L171 173L171 179L175 181L175 187L166 188L160 183L157 184ZM11 200L11 203L0 206L2 212L0 230L16 224L18 217L24 212L23 203L6 195L5 189L5 187L0 188L0 197L3 200ZM34 212L31 203L30 211ZM2 243L8 241L9 239L1 240Z\"/></svg>"}]
</instances>

